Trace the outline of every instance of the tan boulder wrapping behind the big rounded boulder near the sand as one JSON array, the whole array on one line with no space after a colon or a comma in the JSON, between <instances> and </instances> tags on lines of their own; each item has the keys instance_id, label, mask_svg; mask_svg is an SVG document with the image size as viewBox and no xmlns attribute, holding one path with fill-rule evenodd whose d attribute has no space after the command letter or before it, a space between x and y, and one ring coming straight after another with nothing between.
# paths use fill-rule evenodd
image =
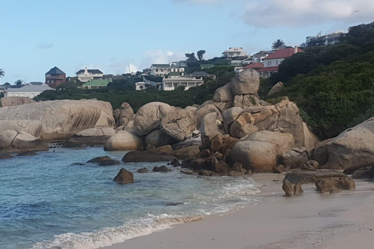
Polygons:
<instances>
[{"instance_id":1,"label":"tan boulder wrapping behind the big rounded boulder near the sand","mask_svg":"<svg viewBox=\"0 0 374 249\"><path fill-rule=\"evenodd\" d=\"M273 143L276 145L277 155L281 155L283 152L286 152L295 147L294 136L290 133L262 130L250 136L247 140Z\"/></svg>"}]
</instances>

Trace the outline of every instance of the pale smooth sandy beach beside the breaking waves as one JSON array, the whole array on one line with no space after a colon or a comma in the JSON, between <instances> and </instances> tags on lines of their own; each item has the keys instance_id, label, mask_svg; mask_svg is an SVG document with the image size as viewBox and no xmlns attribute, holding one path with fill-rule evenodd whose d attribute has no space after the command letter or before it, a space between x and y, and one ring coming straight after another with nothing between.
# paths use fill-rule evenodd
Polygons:
<instances>
[{"instance_id":1,"label":"pale smooth sandy beach beside the breaking waves","mask_svg":"<svg viewBox=\"0 0 374 249\"><path fill-rule=\"evenodd\" d=\"M374 236L374 183L356 180L354 191L318 194L303 185L299 197L282 197L283 176L261 174L262 201L220 217L175 225L107 249L369 249ZM273 181L275 180L275 181Z\"/></svg>"}]
</instances>

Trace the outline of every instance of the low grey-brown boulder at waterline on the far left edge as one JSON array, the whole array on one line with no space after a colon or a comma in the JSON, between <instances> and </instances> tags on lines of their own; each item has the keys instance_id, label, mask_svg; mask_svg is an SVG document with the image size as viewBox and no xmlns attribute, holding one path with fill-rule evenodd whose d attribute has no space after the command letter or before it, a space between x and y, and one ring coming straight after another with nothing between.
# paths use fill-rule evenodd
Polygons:
<instances>
[{"instance_id":1,"label":"low grey-brown boulder at waterline on the far left edge","mask_svg":"<svg viewBox=\"0 0 374 249\"><path fill-rule=\"evenodd\" d=\"M24 132L4 130L0 132L0 152L48 150L48 143Z\"/></svg>"}]
</instances>

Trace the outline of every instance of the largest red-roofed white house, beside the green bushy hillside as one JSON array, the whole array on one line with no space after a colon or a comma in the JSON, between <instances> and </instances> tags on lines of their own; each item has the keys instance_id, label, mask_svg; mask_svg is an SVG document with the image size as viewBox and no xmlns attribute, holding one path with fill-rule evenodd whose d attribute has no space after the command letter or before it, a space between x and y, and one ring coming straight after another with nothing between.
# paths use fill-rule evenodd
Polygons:
<instances>
[{"instance_id":1,"label":"largest red-roofed white house, beside the green bushy hillside","mask_svg":"<svg viewBox=\"0 0 374 249\"><path fill-rule=\"evenodd\" d=\"M304 52L298 47L286 48L275 51L263 59L263 68L257 70L260 73L260 77L267 78L272 74L278 72L278 67L281 65L285 58L291 57L295 53Z\"/></svg>"}]
</instances>

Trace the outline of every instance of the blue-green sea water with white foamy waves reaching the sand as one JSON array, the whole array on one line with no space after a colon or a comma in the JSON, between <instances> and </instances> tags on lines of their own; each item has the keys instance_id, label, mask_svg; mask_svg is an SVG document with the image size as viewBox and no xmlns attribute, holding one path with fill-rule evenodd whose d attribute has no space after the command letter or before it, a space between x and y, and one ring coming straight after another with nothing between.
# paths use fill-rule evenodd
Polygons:
<instances>
[{"instance_id":1,"label":"blue-green sea water with white foamy waves reaching the sand","mask_svg":"<svg viewBox=\"0 0 374 249\"><path fill-rule=\"evenodd\" d=\"M124 154L57 148L0 160L0 249L96 249L260 201L249 177L151 172L165 163L86 163ZM135 183L112 181L122 167ZM136 173L143 167L150 172Z\"/></svg>"}]
</instances>

